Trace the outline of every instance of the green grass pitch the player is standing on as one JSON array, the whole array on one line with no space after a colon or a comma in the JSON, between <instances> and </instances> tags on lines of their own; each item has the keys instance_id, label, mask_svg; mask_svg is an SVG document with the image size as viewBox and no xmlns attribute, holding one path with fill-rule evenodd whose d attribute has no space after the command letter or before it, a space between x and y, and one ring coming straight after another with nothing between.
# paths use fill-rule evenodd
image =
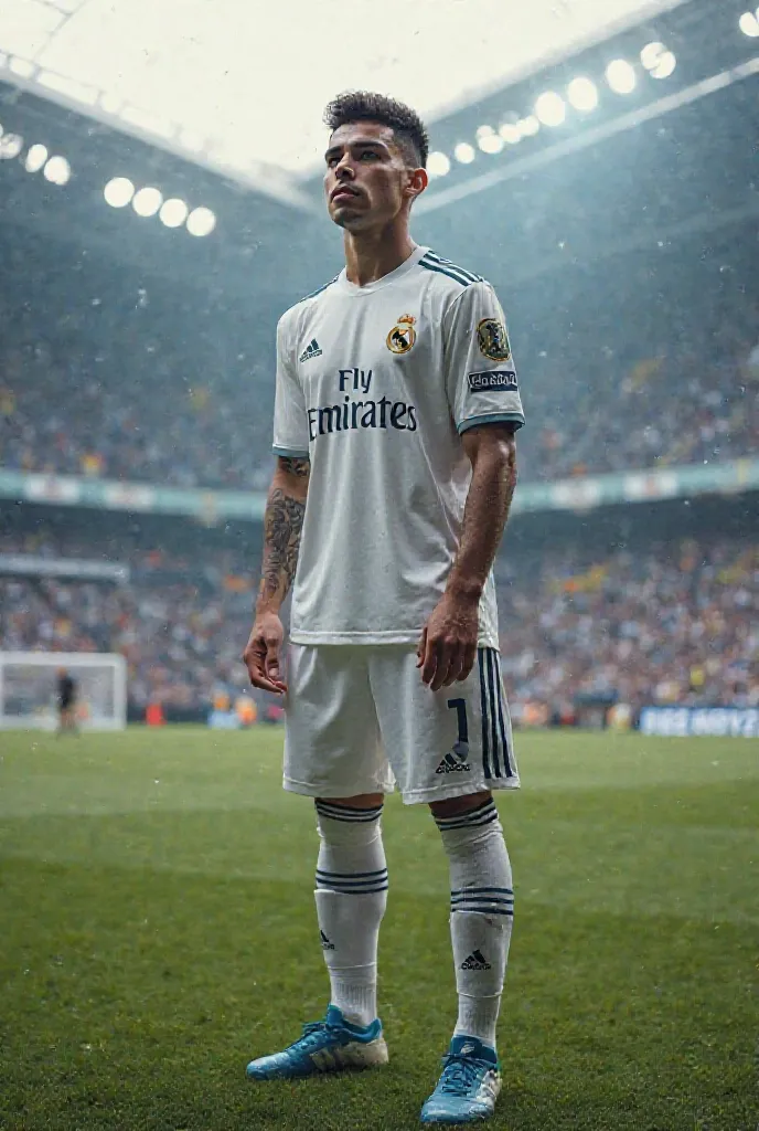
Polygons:
<instances>
[{"instance_id":1,"label":"green grass pitch the player is standing on","mask_svg":"<svg viewBox=\"0 0 759 1131\"><path fill-rule=\"evenodd\" d=\"M0 734L0 1126L417 1125L454 1020L447 870L386 806L386 1069L251 1085L322 1015L314 818L281 733ZM759 743L517 736L509 1131L756 1131Z\"/></svg>"}]
</instances>

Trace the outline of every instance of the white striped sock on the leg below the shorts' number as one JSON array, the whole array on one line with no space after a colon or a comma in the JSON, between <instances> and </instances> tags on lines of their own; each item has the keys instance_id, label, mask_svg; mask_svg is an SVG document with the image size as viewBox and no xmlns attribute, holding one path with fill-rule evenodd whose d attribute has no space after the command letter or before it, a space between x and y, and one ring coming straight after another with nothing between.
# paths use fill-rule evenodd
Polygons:
<instances>
[{"instance_id":1,"label":"white striped sock on the leg below the shorts' number","mask_svg":"<svg viewBox=\"0 0 759 1131\"><path fill-rule=\"evenodd\" d=\"M490 798L457 817L436 818L451 865L451 941L459 991L454 1036L496 1047L514 917L512 865Z\"/></svg>"}]
</instances>

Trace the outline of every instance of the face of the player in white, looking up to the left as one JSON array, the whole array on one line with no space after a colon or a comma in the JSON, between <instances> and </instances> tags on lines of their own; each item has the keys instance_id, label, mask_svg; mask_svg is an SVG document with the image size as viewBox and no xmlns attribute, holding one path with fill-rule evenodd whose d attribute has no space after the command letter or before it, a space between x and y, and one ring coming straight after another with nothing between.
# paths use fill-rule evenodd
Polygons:
<instances>
[{"instance_id":1,"label":"face of the player in white, looking up to the left","mask_svg":"<svg viewBox=\"0 0 759 1131\"><path fill-rule=\"evenodd\" d=\"M331 219L357 232L392 221L419 189L393 131L380 122L340 126L324 158L324 193ZM424 185L422 185L424 188Z\"/></svg>"}]
</instances>

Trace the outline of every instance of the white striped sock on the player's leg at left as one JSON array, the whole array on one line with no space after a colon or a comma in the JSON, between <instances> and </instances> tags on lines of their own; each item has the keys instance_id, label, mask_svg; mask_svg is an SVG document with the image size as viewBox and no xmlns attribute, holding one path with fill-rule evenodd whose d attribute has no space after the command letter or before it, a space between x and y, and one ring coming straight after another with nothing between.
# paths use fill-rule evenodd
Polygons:
<instances>
[{"instance_id":1,"label":"white striped sock on the player's leg at left","mask_svg":"<svg viewBox=\"0 0 759 1131\"><path fill-rule=\"evenodd\" d=\"M317 801L316 814L316 914L330 1000L347 1021L365 1027L377 1016L377 940L387 903L382 805Z\"/></svg>"}]
</instances>

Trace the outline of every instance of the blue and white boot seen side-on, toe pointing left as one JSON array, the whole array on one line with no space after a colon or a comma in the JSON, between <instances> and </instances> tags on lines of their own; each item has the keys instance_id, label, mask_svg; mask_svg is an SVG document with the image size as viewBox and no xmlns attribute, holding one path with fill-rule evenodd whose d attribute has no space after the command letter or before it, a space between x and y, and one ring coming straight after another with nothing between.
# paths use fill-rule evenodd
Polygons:
<instances>
[{"instance_id":1,"label":"blue and white boot seen side-on, toe pointing left","mask_svg":"<svg viewBox=\"0 0 759 1131\"><path fill-rule=\"evenodd\" d=\"M281 1053L251 1061L246 1073L248 1080L294 1080L315 1072L386 1063L387 1045L380 1019L361 1029L349 1025L337 1005L330 1005L323 1021L304 1025L298 1041Z\"/></svg>"}]
</instances>

